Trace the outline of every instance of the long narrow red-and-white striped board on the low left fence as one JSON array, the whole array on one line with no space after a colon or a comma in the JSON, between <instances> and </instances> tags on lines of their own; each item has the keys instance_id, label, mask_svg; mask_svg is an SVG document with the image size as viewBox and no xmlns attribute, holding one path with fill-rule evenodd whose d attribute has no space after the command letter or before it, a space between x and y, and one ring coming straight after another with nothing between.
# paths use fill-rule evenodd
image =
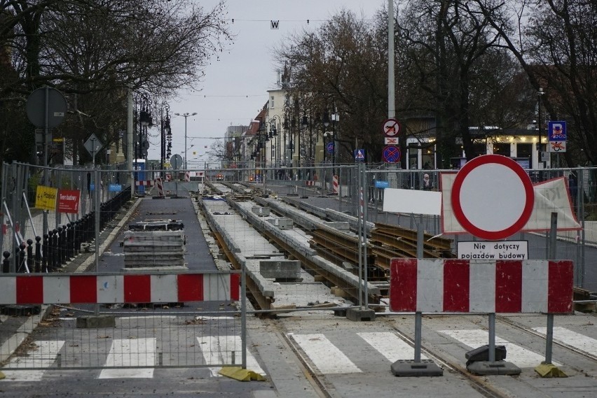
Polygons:
<instances>
[{"instance_id":1,"label":"long narrow red-and-white striped board on the low left fence","mask_svg":"<svg viewBox=\"0 0 597 398\"><path fill-rule=\"evenodd\" d=\"M0 278L0 304L118 304L240 299L238 273L19 275Z\"/></svg>"}]
</instances>

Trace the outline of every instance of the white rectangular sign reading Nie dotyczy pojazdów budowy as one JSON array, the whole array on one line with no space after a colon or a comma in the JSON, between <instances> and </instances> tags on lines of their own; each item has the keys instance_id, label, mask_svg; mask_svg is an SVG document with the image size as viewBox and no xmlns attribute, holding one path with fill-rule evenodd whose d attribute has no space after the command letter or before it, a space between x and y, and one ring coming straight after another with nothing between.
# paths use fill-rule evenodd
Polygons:
<instances>
[{"instance_id":1,"label":"white rectangular sign reading Nie dotyczy pojazd\u00f3w budowy","mask_svg":"<svg viewBox=\"0 0 597 398\"><path fill-rule=\"evenodd\" d=\"M460 260L528 260L528 241L458 242Z\"/></svg>"}]
</instances>

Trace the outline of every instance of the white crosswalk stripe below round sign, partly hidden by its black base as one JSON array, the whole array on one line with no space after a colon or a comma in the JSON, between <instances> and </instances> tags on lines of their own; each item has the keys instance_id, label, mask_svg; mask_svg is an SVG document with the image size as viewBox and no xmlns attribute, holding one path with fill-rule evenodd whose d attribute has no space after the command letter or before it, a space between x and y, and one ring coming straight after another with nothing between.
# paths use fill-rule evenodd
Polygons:
<instances>
[{"instance_id":1,"label":"white crosswalk stripe below round sign, partly hidden by its black base","mask_svg":"<svg viewBox=\"0 0 597 398\"><path fill-rule=\"evenodd\" d=\"M486 330L481 329L439 330L438 332L451 336L453 339L460 341L470 348L486 346L489 341L489 333ZM534 353L531 350L517 346L504 339L500 339L498 336L495 336L495 345L505 346L506 360L512 362L517 367L532 368L545 360L543 355ZM554 364L556 364L556 362L554 362Z\"/></svg>"}]
</instances>

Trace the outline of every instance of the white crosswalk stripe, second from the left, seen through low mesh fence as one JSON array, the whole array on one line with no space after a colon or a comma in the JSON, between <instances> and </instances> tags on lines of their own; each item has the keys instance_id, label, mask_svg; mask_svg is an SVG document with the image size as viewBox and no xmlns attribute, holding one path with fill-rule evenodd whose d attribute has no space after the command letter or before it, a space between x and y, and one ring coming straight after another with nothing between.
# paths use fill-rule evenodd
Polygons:
<instances>
[{"instance_id":1,"label":"white crosswalk stripe, second from the left, seen through low mesh fence","mask_svg":"<svg viewBox=\"0 0 597 398\"><path fill-rule=\"evenodd\" d=\"M126 369L103 369L98 378L152 378L156 365L156 339L116 339L112 342L106 358L107 367L130 367Z\"/></svg>"}]
</instances>

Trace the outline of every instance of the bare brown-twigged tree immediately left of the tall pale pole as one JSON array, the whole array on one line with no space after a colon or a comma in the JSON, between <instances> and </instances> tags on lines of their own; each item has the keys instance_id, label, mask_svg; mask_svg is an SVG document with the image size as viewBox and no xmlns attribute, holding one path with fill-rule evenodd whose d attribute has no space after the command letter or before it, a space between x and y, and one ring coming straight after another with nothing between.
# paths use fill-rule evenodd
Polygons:
<instances>
[{"instance_id":1,"label":"bare brown-twigged tree immediately left of the tall pale pole","mask_svg":"<svg viewBox=\"0 0 597 398\"><path fill-rule=\"evenodd\" d=\"M341 115L335 127L338 161L350 159L355 145L379 161L383 136L380 122L387 109L387 41L377 27L341 10L317 29L284 41L276 53L287 70L288 119L296 128L303 115L312 123L310 134L321 136L325 113ZM311 137L303 136L301 145ZM308 152L308 151L307 151ZM301 150L306 153L306 150Z\"/></svg>"}]
</instances>

